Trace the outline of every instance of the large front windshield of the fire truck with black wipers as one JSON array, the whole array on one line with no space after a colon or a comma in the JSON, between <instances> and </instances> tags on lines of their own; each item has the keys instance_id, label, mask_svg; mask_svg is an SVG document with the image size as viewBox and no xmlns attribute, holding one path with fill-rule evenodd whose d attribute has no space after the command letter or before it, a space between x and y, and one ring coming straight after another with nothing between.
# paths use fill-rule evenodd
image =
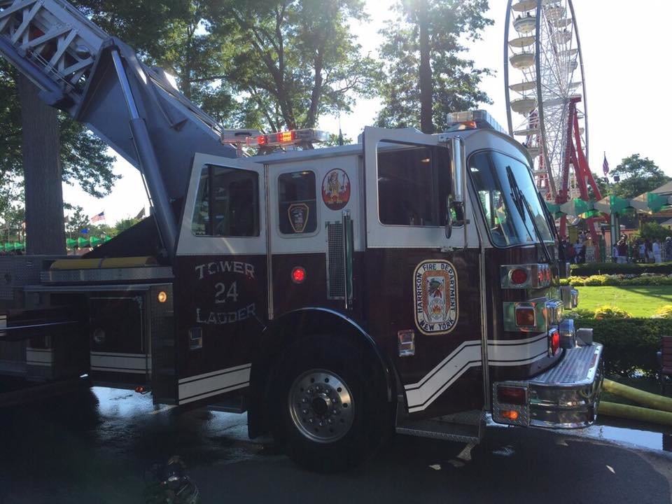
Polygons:
<instances>
[{"instance_id":1,"label":"large front windshield of the fire truck with black wipers","mask_svg":"<svg viewBox=\"0 0 672 504\"><path fill-rule=\"evenodd\" d=\"M495 246L553 241L527 165L486 151L471 156L469 169Z\"/></svg>"}]
</instances>

